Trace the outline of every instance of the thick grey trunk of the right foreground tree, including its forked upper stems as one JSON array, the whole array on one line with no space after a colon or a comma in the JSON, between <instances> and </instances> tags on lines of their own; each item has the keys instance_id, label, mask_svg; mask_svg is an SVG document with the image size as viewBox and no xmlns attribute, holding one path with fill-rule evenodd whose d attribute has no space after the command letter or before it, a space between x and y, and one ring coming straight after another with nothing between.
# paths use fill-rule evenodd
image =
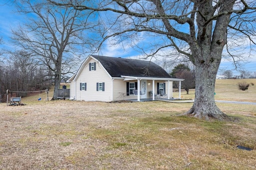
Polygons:
<instances>
[{"instance_id":1,"label":"thick grey trunk of the right foreground tree, including its forked upper stems","mask_svg":"<svg viewBox=\"0 0 256 170\"><path fill-rule=\"evenodd\" d=\"M232 9L235 1L228 1L228 5L222 6L220 11L225 12ZM206 18L214 15L212 13L214 10L209 10L212 8L212 1L202 2L204 1L199 3L198 10L203 15L197 15L196 17L198 25L196 43L190 43L196 68L195 100L194 105L186 114L206 120L210 118L230 120L230 117L220 111L214 101L215 80L222 58L222 51L226 44L226 28L228 27L230 14L219 16L215 24L212 20L205 22ZM213 26L214 31L212 32Z\"/></svg>"}]
</instances>

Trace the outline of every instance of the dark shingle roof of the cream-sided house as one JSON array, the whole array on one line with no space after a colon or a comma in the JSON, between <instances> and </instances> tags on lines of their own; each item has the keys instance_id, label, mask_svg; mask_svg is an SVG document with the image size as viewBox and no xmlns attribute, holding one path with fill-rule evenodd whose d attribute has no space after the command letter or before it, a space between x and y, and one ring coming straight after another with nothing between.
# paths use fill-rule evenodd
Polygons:
<instances>
[{"instance_id":1,"label":"dark shingle roof of the cream-sided house","mask_svg":"<svg viewBox=\"0 0 256 170\"><path fill-rule=\"evenodd\" d=\"M121 75L124 75L134 77L171 78L171 76L162 67L151 61L99 55L91 56L98 59L112 77L121 77Z\"/></svg>"}]
</instances>

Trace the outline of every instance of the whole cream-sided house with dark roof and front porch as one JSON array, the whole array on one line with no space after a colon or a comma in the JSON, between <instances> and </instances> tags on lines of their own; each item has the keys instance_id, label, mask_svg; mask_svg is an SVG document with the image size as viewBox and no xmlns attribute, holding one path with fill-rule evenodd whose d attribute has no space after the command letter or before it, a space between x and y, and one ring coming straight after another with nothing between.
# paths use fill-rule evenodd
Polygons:
<instances>
[{"instance_id":1,"label":"whole cream-sided house with dark roof and front porch","mask_svg":"<svg viewBox=\"0 0 256 170\"><path fill-rule=\"evenodd\" d=\"M73 75L70 83L70 98L77 101L120 101L128 99L154 100L162 89L167 98L172 98L172 81L164 69L155 63L90 55ZM135 92L140 92L138 95Z\"/></svg>"}]
</instances>

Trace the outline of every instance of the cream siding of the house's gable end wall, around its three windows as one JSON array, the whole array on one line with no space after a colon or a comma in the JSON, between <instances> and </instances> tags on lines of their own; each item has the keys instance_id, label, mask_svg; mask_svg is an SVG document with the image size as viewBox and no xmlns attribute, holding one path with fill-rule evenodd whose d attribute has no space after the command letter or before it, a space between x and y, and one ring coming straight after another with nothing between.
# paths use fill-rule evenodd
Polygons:
<instances>
[{"instance_id":1,"label":"cream siding of the house's gable end wall, around its three windows","mask_svg":"<svg viewBox=\"0 0 256 170\"><path fill-rule=\"evenodd\" d=\"M89 63L96 62L96 70L89 71ZM80 83L86 83L86 91L80 90ZM105 83L105 91L97 91L96 83ZM104 68L94 59L90 59L76 79L76 100L111 101L112 80Z\"/></svg>"}]
</instances>

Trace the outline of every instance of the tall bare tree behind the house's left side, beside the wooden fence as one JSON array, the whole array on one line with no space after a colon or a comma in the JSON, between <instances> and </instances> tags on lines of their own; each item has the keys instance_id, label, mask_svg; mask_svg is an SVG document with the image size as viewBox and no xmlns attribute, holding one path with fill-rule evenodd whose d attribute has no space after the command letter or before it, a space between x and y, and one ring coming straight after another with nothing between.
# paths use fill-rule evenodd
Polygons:
<instances>
[{"instance_id":1,"label":"tall bare tree behind the house's left side, beside the wooden fence","mask_svg":"<svg viewBox=\"0 0 256 170\"><path fill-rule=\"evenodd\" d=\"M79 60L78 55L84 54L85 49L92 51L94 48L94 40L86 37L83 31L96 24L86 19L90 13L54 6L45 0L19 0L17 5L19 12L29 18L27 24L12 30L12 39L54 72L52 100L56 100L62 76L75 71L72 64Z\"/></svg>"}]
</instances>

